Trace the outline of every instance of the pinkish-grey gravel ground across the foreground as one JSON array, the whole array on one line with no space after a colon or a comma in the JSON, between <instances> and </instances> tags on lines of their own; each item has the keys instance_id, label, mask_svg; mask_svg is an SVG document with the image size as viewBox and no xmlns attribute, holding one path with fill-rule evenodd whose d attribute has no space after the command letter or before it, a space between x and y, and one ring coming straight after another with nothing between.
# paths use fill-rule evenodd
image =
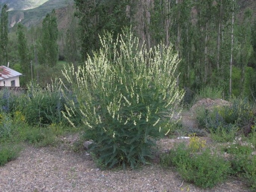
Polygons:
<instances>
[{"instance_id":1,"label":"pinkish-grey gravel ground across the foreground","mask_svg":"<svg viewBox=\"0 0 256 192\"><path fill-rule=\"evenodd\" d=\"M248 189L239 181L229 180L211 190L203 190L183 182L177 173L164 170L158 164L138 170L102 171L90 156L59 148L25 146L19 158L0 167L0 191L238 192Z\"/></svg>"}]
</instances>

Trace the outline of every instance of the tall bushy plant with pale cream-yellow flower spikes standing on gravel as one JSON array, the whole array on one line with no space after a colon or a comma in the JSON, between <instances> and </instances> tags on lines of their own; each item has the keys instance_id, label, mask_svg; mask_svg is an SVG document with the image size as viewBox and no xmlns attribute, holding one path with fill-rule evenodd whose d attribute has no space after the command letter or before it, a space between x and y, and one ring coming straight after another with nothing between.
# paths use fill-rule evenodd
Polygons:
<instances>
[{"instance_id":1,"label":"tall bushy plant with pale cream-yellow flower spikes standing on gravel","mask_svg":"<svg viewBox=\"0 0 256 192\"><path fill-rule=\"evenodd\" d=\"M84 66L63 71L70 82L63 93L75 94L63 114L73 124L80 112L103 166L134 168L146 163L156 140L173 124L170 119L183 97L176 86L177 54L164 45L147 51L131 33L100 39L101 49Z\"/></svg>"}]
</instances>

